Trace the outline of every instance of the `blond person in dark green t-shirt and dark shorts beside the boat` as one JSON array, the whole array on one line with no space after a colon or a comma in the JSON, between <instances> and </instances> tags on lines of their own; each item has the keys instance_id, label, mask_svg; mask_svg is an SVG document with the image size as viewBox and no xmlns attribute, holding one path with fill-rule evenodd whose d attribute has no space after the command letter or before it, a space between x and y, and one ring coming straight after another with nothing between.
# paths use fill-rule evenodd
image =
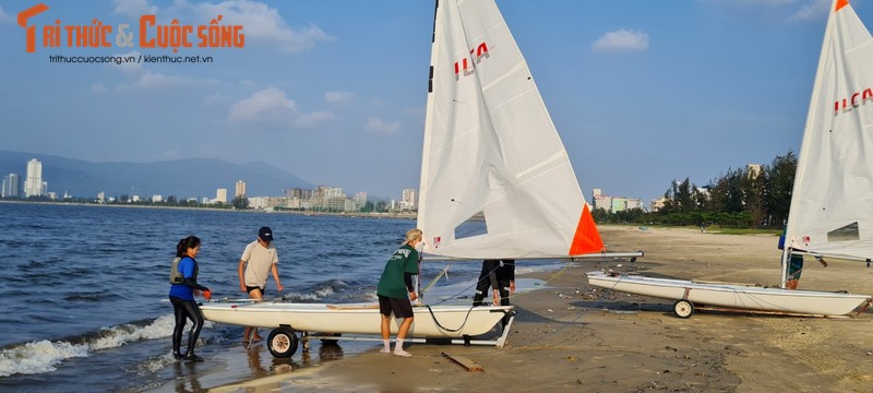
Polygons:
<instances>
[{"instance_id":1,"label":"blond person in dark green t-shirt and dark shorts beside the boat","mask_svg":"<svg viewBox=\"0 0 873 393\"><path fill-rule=\"evenodd\" d=\"M403 341L412 324L414 313L410 300L418 299L416 289L412 286L412 276L418 275L418 255L421 252L421 229L409 229L406 233L406 241L398 248L385 263L382 277L379 278L376 295L379 297L379 313L382 315L382 343L383 354L391 353L391 314L394 318L403 318L400 326L397 329L397 344L394 346L394 355L410 357L411 354L403 349Z\"/></svg>"}]
</instances>

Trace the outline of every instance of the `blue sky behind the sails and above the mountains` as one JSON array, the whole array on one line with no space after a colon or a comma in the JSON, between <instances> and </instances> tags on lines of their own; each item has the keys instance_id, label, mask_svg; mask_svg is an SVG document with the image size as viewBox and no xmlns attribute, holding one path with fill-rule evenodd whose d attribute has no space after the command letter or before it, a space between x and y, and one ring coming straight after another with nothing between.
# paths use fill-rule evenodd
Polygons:
<instances>
[{"instance_id":1,"label":"blue sky behind the sails and above the mountains","mask_svg":"<svg viewBox=\"0 0 873 393\"><path fill-rule=\"evenodd\" d=\"M16 15L28 19L35 50ZM498 0L586 199L648 201L673 180L798 152L830 0ZM873 1L851 1L865 24ZM142 47L140 21L193 26ZM198 27L244 45L199 48ZM106 25L109 48L45 47L43 26ZM134 32L119 45L119 26ZM418 188L432 0L0 0L0 150L95 163L263 162L348 194ZM208 31L206 31L208 32ZM208 63L58 63L51 56ZM188 176L180 174L180 176ZM232 184L216 184L231 188ZM280 194L276 190L276 195Z\"/></svg>"}]
</instances>

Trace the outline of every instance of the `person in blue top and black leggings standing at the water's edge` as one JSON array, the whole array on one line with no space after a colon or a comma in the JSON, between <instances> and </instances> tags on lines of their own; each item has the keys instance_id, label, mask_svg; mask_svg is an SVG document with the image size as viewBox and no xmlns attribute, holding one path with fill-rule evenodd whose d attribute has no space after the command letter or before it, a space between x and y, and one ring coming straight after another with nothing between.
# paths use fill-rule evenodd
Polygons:
<instances>
[{"instance_id":1,"label":"person in blue top and black leggings standing at the water's edge","mask_svg":"<svg viewBox=\"0 0 873 393\"><path fill-rule=\"evenodd\" d=\"M212 298L210 288L198 284L198 261L194 259L200 252L200 239L189 236L176 246L176 259L170 270L170 302L172 312L176 315L176 326L172 329L172 356L176 360L203 361L203 358L194 355L194 345L198 343L200 330L203 327L203 313L194 302L194 296L201 296L206 300ZM188 350L184 355L180 352L182 343L182 331L187 320L191 320L193 325L188 333Z\"/></svg>"}]
</instances>

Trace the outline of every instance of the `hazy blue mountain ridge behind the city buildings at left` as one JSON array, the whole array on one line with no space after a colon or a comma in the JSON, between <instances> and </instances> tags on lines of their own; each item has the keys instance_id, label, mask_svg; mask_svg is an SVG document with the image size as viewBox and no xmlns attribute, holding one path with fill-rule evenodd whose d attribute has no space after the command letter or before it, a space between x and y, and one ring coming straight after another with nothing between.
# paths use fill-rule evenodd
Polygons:
<instances>
[{"instance_id":1,"label":"hazy blue mountain ridge behind the city buildings at left","mask_svg":"<svg viewBox=\"0 0 873 393\"><path fill-rule=\"evenodd\" d=\"M23 188L31 158L43 163L43 180L58 195L67 192L87 198L106 192L106 196L159 194L200 199L215 198L215 191L224 188L228 199L232 199L237 180L246 182L248 196L282 195L284 189L313 187L287 170L260 162L237 165L220 159L186 158L147 164L92 163L4 150L0 150L0 175L19 174Z\"/></svg>"}]
</instances>

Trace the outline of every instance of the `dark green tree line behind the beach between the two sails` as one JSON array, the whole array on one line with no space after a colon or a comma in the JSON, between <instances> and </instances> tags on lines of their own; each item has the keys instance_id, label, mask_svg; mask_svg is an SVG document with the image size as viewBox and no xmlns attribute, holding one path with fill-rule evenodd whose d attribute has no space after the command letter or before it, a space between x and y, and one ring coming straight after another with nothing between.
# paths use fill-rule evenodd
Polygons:
<instances>
[{"instance_id":1,"label":"dark green tree line behind the beach between the two sails","mask_svg":"<svg viewBox=\"0 0 873 393\"><path fill-rule=\"evenodd\" d=\"M673 180L658 211L596 209L593 214L595 222L608 224L781 228L788 221L797 167L797 156L788 151L760 171L731 168L704 187L689 178Z\"/></svg>"}]
</instances>

